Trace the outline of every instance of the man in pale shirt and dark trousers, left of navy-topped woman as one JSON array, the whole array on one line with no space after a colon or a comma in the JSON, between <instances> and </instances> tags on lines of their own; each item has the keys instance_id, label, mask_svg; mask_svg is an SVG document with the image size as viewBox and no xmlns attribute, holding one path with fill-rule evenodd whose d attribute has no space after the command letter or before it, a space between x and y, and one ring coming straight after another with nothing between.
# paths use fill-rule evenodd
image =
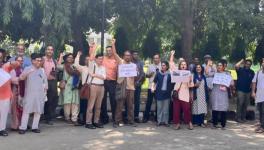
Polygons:
<instances>
[{"instance_id":1,"label":"man in pale shirt and dark trousers, left of navy-topped woman","mask_svg":"<svg viewBox=\"0 0 264 150\"><path fill-rule=\"evenodd\" d=\"M149 65L148 71L146 73L146 77L149 78L149 87L148 87L148 99L145 107L143 123L146 123L149 120L149 113L151 111L151 105L154 98L154 93L151 92L152 83L154 81L156 72L159 71L160 69L161 69L160 55L155 54L153 56L153 64Z\"/></svg>"}]
</instances>

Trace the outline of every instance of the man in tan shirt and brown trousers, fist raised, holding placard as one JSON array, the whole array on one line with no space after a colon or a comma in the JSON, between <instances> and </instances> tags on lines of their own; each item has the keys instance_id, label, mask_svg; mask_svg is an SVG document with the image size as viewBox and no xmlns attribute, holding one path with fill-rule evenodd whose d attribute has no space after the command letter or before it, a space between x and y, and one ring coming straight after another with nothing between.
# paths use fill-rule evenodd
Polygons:
<instances>
[{"instance_id":1,"label":"man in tan shirt and brown trousers, fist raised, holding placard","mask_svg":"<svg viewBox=\"0 0 264 150\"><path fill-rule=\"evenodd\" d=\"M116 53L116 49L114 49L114 55L116 59L118 60L119 65L133 65L131 62L132 60L132 54L130 51L124 52L124 57L121 59L118 54ZM134 64L135 65L135 64ZM120 70L120 66L118 68ZM132 70L133 72L136 72L137 70ZM124 73L126 74L126 73ZM118 86L121 88L121 93L119 93L119 97L117 97L117 106L116 106L116 115L115 115L115 123L114 127L122 126L122 110L124 107L124 104L127 104L127 112L128 112L128 125L136 126L134 124L134 93L135 93L135 76L131 76L131 74L128 74L128 76L123 76L124 74L118 74L117 83ZM133 74L133 73L132 73Z\"/></svg>"}]
</instances>

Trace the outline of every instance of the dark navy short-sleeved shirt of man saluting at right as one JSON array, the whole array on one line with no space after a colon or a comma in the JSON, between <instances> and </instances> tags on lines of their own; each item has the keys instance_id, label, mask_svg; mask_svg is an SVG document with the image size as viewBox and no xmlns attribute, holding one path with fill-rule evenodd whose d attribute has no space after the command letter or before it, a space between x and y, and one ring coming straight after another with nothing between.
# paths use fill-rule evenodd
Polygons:
<instances>
[{"instance_id":1,"label":"dark navy short-sleeved shirt of man saluting at right","mask_svg":"<svg viewBox=\"0 0 264 150\"><path fill-rule=\"evenodd\" d=\"M251 83L254 78L254 71L246 68L239 68L237 72L237 90L245 93L251 91Z\"/></svg>"}]
</instances>

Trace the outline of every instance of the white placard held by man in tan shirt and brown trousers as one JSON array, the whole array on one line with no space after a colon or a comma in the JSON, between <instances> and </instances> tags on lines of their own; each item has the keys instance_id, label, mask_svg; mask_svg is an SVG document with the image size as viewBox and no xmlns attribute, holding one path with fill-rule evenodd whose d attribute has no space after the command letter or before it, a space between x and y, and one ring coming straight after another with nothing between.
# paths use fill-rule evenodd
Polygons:
<instances>
[{"instance_id":1,"label":"white placard held by man in tan shirt and brown trousers","mask_svg":"<svg viewBox=\"0 0 264 150\"><path fill-rule=\"evenodd\" d=\"M136 77L136 64L121 64L118 66L118 77Z\"/></svg>"}]
</instances>

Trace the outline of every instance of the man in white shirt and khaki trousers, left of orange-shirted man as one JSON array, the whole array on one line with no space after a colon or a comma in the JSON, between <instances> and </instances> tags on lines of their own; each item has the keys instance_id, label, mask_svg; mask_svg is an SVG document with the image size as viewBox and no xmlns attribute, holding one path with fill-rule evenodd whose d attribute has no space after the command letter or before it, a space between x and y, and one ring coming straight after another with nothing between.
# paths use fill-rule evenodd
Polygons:
<instances>
[{"instance_id":1,"label":"man in white shirt and khaki trousers, left of orange-shirted man","mask_svg":"<svg viewBox=\"0 0 264 150\"><path fill-rule=\"evenodd\" d=\"M90 98L86 113L86 125L88 129L103 128L99 122L101 113L101 104L104 97L104 80L106 79L106 70L103 66L103 55L98 54L95 56L95 62L89 63L89 78L88 82L90 87ZM93 118L94 111L94 121Z\"/></svg>"}]
</instances>

